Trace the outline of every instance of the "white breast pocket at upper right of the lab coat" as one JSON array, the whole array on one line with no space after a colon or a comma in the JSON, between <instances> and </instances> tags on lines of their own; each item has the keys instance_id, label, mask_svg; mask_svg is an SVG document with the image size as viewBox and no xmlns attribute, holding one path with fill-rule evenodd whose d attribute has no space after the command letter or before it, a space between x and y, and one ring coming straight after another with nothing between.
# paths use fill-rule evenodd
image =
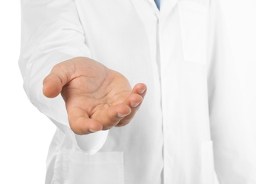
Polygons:
<instances>
[{"instance_id":1,"label":"white breast pocket at upper right of the lab coat","mask_svg":"<svg viewBox=\"0 0 256 184\"><path fill-rule=\"evenodd\" d=\"M203 1L206 2L206 1ZM185 62L206 64L207 4L178 1L181 44Z\"/></svg>"}]
</instances>

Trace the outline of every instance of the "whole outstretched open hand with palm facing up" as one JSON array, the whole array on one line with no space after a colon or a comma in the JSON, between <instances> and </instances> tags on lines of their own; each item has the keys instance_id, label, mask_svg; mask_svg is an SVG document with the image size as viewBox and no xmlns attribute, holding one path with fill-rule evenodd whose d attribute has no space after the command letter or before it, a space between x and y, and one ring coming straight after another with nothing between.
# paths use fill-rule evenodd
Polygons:
<instances>
[{"instance_id":1,"label":"whole outstretched open hand with palm facing up","mask_svg":"<svg viewBox=\"0 0 256 184\"><path fill-rule=\"evenodd\" d=\"M117 71L87 57L55 65L43 80L43 94L65 100L70 127L75 134L90 134L127 125L146 94L146 85L132 89Z\"/></svg>"}]
</instances>

